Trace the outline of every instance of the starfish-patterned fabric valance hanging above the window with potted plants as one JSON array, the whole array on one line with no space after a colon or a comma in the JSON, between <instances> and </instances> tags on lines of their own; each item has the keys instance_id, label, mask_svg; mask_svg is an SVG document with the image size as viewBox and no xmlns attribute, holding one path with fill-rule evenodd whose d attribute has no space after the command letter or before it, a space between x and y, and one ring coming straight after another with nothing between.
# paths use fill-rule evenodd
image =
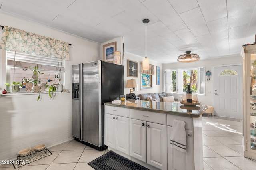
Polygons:
<instances>
[{"instance_id":1,"label":"starfish-patterned fabric valance hanging above the window with potted plants","mask_svg":"<svg viewBox=\"0 0 256 170\"><path fill-rule=\"evenodd\" d=\"M68 43L4 26L0 49L69 60Z\"/></svg>"}]
</instances>

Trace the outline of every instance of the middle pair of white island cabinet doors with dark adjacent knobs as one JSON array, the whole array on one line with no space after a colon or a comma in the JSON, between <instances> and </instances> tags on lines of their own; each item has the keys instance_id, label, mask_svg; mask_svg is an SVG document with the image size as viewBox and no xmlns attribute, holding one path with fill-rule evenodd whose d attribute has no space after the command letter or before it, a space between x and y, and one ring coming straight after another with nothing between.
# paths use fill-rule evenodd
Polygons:
<instances>
[{"instance_id":1,"label":"middle pair of white island cabinet doors with dark adjacent knobs","mask_svg":"<svg viewBox=\"0 0 256 170\"><path fill-rule=\"evenodd\" d=\"M130 119L130 156L167 169L167 126Z\"/></svg>"}]
</instances>

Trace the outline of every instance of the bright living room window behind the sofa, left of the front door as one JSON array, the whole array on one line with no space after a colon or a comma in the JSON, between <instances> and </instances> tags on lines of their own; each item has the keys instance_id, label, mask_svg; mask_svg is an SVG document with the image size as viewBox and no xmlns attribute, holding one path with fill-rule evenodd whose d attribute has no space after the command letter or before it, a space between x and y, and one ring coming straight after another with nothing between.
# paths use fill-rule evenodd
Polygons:
<instances>
[{"instance_id":1,"label":"bright living room window behind the sofa, left of the front door","mask_svg":"<svg viewBox=\"0 0 256 170\"><path fill-rule=\"evenodd\" d=\"M190 89L197 94L205 94L204 67L165 70L164 89L168 93L183 93Z\"/></svg>"}]
</instances>

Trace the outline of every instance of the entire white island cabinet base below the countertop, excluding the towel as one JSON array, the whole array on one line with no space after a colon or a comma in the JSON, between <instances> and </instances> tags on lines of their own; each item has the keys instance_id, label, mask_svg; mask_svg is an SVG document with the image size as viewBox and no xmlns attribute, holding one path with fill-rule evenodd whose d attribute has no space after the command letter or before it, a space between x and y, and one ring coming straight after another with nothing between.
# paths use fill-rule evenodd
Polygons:
<instances>
[{"instance_id":1,"label":"entire white island cabinet base below the countertop, excluding the towel","mask_svg":"<svg viewBox=\"0 0 256 170\"><path fill-rule=\"evenodd\" d=\"M186 123L185 153L172 148L170 144L175 119ZM131 159L136 158L161 170L204 168L202 117L191 118L105 106L104 127L104 144L130 155Z\"/></svg>"}]
</instances>

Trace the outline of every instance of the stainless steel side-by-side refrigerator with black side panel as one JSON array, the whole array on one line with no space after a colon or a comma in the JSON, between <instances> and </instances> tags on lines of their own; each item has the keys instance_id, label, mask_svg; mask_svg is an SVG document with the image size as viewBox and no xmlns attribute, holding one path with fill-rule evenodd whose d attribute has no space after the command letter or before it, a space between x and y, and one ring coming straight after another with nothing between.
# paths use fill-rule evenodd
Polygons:
<instances>
[{"instance_id":1,"label":"stainless steel side-by-side refrigerator with black side panel","mask_svg":"<svg viewBox=\"0 0 256 170\"><path fill-rule=\"evenodd\" d=\"M72 65L72 136L104 150L104 102L123 93L123 65L101 60Z\"/></svg>"}]
</instances>

